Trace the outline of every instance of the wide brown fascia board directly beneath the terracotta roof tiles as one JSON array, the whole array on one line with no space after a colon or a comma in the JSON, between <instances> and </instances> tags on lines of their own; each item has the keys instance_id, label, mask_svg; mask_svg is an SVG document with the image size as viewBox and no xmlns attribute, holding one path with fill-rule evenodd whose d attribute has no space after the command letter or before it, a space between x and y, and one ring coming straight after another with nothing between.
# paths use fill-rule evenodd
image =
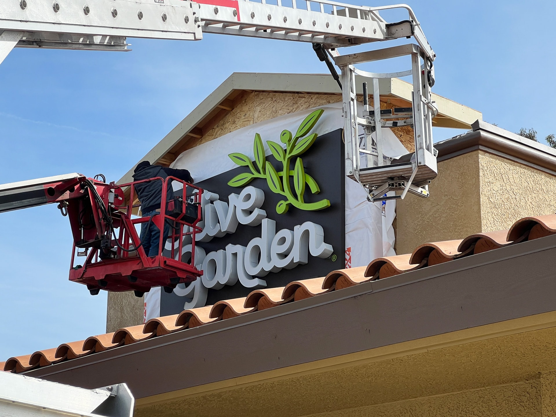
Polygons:
<instances>
[{"instance_id":1,"label":"wide brown fascia board directly beneath the terracotta roof tiles","mask_svg":"<svg viewBox=\"0 0 556 417\"><path fill-rule=\"evenodd\" d=\"M556 235L39 368L136 398L556 311Z\"/></svg>"}]
</instances>

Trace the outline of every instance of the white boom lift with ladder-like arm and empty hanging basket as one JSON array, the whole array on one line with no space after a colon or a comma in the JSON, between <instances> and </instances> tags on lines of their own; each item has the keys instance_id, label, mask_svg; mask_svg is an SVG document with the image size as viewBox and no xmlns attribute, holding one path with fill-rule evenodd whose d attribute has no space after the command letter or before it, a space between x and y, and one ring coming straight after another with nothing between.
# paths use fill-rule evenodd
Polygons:
<instances>
[{"instance_id":1,"label":"white boom lift with ladder-like arm and empty hanging basket","mask_svg":"<svg viewBox=\"0 0 556 417\"><path fill-rule=\"evenodd\" d=\"M329 0L0 0L0 62L13 47L128 51L127 37L202 39L203 32L311 42L342 87L346 175L361 183L372 201L404 198L407 192L428 197L436 176L431 101L435 53L415 14L406 4L364 7ZM300 7L299 4L306 7ZM402 9L408 19L388 23L379 14ZM404 44L375 51L340 55L337 48L413 37ZM360 71L355 64L400 56L411 57L411 69L395 73ZM341 82L330 61L341 69ZM358 117L355 75L373 79L373 106L364 93L363 117ZM379 78L413 76L413 106L380 110ZM366 87L365 87L366 90ZM360 149L358 127L369 137ZM410 162L390 165L383 155L381 129L413 126L415 155ZM369 135L374 133L375 146ZM370 167L361 168L360 152ZM401 194L385 196L388 191Z\"/></svg>"}]
</instances>

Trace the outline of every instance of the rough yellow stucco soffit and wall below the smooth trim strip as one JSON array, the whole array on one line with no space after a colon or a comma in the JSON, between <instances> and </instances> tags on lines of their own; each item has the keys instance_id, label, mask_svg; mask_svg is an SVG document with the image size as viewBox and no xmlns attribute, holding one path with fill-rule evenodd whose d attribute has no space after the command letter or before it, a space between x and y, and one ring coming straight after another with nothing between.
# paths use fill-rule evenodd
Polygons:
<instances>
[{"instance_id":1,"label":"rough yellow stucco soffit and wall below the smooth trim strip","mask_svg":"<svg viewBox=\"0 0 556 417\"><path fill-rule=\"evenodd\" d=\"M540 416L540 385L531 381L556 369L555 349L556 327L548 327L207 391L143 405L135 415L177 417L187 412L190 417L281 417L366 408L360 414L345 415ZM543 409L553 412L556 378L550 374L541 381L545 393ZM488 387L495 388L481 391ZM447 394L453 396L433 398ZM517 414L509 414L510 410Z\"/></svg>"}]
</instances>

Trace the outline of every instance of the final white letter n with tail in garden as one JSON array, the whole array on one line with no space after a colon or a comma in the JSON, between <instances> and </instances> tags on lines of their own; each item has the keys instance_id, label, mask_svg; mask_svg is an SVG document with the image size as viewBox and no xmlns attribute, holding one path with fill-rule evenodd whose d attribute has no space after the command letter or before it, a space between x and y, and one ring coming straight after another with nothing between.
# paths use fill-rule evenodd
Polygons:
<instances>
[{"instance_id":1,"label":"final white letter n with tail in garden","mask_svg":"<svg viewBox=\"0 0 556 417\"><path fill-rule=\"evenodd\" d=\"M321 225L314 224L312 221L306 221L301 226L294 227L294 254L295 264L307 263L307 249L312 256L319 258L327 258L332 255L334 250L332 245L324 242L324 230Z\"/></svg>"}]
</instances>

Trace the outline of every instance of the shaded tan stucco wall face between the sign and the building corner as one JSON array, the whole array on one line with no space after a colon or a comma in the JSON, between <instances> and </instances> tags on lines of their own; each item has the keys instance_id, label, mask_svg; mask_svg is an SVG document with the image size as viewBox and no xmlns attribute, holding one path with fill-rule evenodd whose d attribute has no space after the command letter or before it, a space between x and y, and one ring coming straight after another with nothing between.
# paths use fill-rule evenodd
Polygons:
<instances>
[{"instance_id":1,"label":"shaded tan stucco wall face between the sign and the building corner","mask_svg":"<svg viewBox=\"0 0 556 417\"><path fill-rule=\"evenodd\" d=\"M479 151L439 162L429 198L409 194L396 202L396 253L480 232L479 186Z\"/></svg>"}]
</instances>

